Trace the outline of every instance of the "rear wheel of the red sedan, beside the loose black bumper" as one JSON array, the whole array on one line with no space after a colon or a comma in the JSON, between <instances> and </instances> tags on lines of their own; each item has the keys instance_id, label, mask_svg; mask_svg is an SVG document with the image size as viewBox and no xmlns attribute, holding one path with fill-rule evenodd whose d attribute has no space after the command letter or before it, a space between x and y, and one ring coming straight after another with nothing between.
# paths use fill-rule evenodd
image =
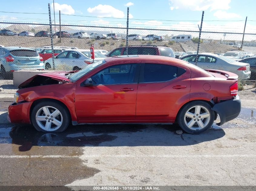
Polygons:
<instances>
[{"instance_id":1,"label":"rear wheel of the red sedan, beside the loose black bumper","mask_svg":"<svg viewBox=\"0 0 256 191\"><path fill-rule=\"evenodd\" d=\"M205 113L204 118L201 117L203 113ZM204 101L193 101L181 108L177 119L179 126L181 126L185 132L200 134L212 126L214 116L214 111L211 109L209 103ZM198 125L199 123L197 121L201 122L200 125Z\"/></svg>"}]
</instances>

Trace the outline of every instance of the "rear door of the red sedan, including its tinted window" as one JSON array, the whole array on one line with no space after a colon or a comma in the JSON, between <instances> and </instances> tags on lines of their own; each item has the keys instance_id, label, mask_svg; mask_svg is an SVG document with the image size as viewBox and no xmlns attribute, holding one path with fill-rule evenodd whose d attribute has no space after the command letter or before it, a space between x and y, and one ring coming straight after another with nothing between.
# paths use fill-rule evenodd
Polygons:
<instances>
[{"instance_id":1,"label":"rear door of the red sedan, including its tinted window","mask_svg":"<svg viewBox=\"0 0 256 191\"><path fill-rule=\"evenodd\" d=\"M189 100L190 76L185 66L165 62L141 64L136 120L173 123L180 106Z\"/></svg>"}]
</instances>

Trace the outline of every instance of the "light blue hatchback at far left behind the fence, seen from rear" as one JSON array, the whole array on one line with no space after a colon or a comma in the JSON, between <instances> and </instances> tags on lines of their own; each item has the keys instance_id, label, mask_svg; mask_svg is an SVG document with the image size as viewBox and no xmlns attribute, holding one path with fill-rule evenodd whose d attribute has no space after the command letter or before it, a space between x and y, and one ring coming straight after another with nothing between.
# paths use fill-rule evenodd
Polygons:
<instances>
[{"instance_id":1,"label":"light blue hatchback at far left behind the fence, seen from rear","mask_svg":"<svg viewBox=\"0 0 256 191\"><path fill-rule=\"evenodd\" d=\"M7 46L0 47L0 77L9 78L15 70L44 69L39 54L30 48Z\"/></svg>"}]
</instances>

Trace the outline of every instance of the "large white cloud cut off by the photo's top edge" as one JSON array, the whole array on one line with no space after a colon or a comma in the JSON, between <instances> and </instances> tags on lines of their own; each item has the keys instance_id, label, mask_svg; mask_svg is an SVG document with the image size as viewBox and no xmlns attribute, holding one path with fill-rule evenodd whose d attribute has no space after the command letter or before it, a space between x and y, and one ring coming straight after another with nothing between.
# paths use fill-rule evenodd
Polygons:
<instances>
[{"instance_id":1,"label":"large white cloud cut off by the photo's top edge","mask_svg":"<svg viewBox=\"0 0 256 191\"><path fill-rule=\"evenodd\" d=\"M170 9L189 9L191 11L217 10L230 8L231 0L169 0Z\"/></svg>"}]
</instances>

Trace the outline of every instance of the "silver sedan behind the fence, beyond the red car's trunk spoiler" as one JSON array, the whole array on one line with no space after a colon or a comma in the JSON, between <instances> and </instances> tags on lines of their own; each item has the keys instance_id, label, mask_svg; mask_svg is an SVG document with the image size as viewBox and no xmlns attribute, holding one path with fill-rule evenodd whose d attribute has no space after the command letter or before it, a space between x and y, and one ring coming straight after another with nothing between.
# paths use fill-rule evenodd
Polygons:
<instances>
[{"instance_id":1,"label":"silver sedan behind the fence, beyond the red car's trunk spoiler","mask_svg":"<svg viewBox=\"0 0 256 191\"><path fill-rule=\"evenodd\" d=\"M195 64L196 54L189 54L180 58ZM197 66L203 69L224 70L238 75L238 79L245 80L251 76L250 65L234 61L226 56L216 54L198 54Z\"/></svg>"}]
</instances>

